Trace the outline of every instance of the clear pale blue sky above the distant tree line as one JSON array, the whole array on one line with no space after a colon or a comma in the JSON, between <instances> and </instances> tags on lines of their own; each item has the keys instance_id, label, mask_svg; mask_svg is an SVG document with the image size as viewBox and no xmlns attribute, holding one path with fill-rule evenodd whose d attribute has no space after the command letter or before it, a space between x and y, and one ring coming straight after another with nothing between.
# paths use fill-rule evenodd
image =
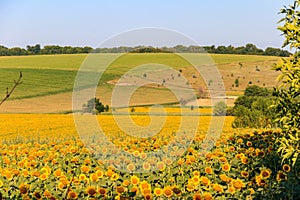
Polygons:
<instances>
[{"instance_id":1,"label":"clear pale blue sky above the distant tree line","mask_svg":"<svg viewBox=\"0 0 300 200\"><path fill-rule=\"evenodd\" d=\"M291 0L0 0L0 45L96 47L132 29L175 30L199 45L281 47ZM151 45L151 44L149 44ZM163 43L161 45L164 45Z\"/></svg>"}]
</instances>

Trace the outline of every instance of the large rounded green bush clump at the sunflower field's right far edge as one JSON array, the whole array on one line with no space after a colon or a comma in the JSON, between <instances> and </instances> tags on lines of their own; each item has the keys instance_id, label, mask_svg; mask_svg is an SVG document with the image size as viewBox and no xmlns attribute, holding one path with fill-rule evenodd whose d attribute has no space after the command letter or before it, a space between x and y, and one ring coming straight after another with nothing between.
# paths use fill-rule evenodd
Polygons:
<instances>
[{"instance_id":1,"label":"large rounded green bush clump at the sunflower field's right far edge","mask_svg":"<svg viewBox=\"0 0 300 200\"><path fill-rule=\"evenodd\" d=\"M274 126L271 93L266 88L248 86L243 96L237 98L233 107L235 128L260 128Z\"/></svg>"}]
</instances>

